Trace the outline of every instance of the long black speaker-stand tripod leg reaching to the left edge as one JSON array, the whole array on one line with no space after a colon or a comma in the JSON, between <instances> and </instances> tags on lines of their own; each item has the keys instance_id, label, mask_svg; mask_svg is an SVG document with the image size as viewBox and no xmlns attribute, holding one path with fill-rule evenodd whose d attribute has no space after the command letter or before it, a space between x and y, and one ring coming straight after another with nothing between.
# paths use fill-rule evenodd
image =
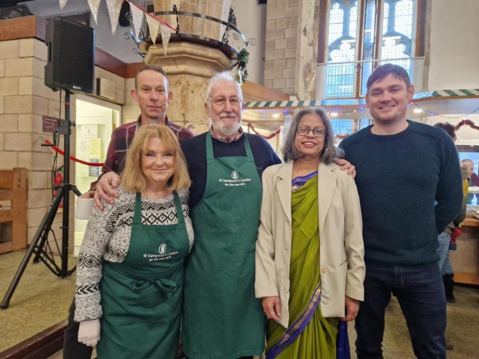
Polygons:
<instances>
[{"instance_id":1,"label":"long black speaker-stand tripod leg reaching to the left edge","mask_svg":"<svg viewBox=\"0 0 479 359\"><path fill-rule=\"evenodd\" d=\"M41 234L43 233L46 225L50 222L51 217L55 216L58 205L60 204L60 200L63 197L64 190L65 189L63 187L58 188L58 193L56 193L55 198L50 204L50 208L48 208L48 211L43 217L43 220L41 221L40 226L36 230L35 236L33 237L33 240L31 241L30 245L28 246L28 250L26 251L25 256L23 257L20 263L20 266L18 267L15 273L15 276L13 277L13 280L11 281L11 284L8 287L8 290L6 291L6 294L0 303L0 308L2 309L8 308L11 296L13 295L13 292L15 291L15 288L18 285L18 282L20 281L21 276L23 275L23 272L25 270L26 265L28 264L28 261L30 260L31 255L33 254L33 250L36 247L36 243L40 239Z\"/></svg>"}]
</instances>

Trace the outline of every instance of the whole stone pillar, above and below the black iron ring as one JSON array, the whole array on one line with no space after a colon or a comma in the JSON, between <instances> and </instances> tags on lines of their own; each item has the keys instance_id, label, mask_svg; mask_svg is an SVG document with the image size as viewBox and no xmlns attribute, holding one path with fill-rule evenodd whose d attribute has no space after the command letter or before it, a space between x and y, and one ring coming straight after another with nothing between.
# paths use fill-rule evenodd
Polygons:
<instances>
[{"instance_id":1,"label":"whole stone pillar, above and below the black iron ring","mask_svg":"<svg viewBox=\"0 0 479 359\"><path fill-rule=\"evenodd\" d=\"M171 11L176 3L178 11L196 12L228 20L231 0L154 0L155 11ZM165 15L162 20L176 27L176 16ZM179 16L180 32L212 39L220 39L224 26L192 16ZM172 42L166 55L161 44L151 45L145 63L161 65L170 81L173 102L168 118L185 126L195 134L208 129L208 116L204 111L206 88L214 72L231 70L232 62L221 50L193 42Z\"/></svg>"}]
</instances>

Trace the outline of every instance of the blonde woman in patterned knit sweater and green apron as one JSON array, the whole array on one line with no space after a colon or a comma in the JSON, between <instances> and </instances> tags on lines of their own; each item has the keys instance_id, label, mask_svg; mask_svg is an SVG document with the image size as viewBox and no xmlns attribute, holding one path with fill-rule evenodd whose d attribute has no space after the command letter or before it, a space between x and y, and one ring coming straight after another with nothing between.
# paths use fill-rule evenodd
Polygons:
<instances>
[{"instance_id":1,"label":"blonde woman in patterned knit sweater and green apron","mask_svg":"<svg viewBox=\"0 0 479 359\"><path fill-rule=\"evenodd\" d=\"M78 342L98 359L175 359L184 259L193 244L190 179L173 132L142 125L114 204L90 215L78 254Z\"/></svg>"}]
</instances>

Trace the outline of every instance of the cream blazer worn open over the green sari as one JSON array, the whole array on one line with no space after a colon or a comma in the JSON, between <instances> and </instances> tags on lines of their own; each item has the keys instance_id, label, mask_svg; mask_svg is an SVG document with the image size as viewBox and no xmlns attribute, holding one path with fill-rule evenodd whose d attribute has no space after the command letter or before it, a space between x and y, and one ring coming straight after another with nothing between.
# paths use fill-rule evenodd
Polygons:
<instances>
[{"instance_id":1,"label":"cream blazer worn open over the green sari","mask_svg":"<svg viewBox=\"0 0 479 359\"><path fill-rule=\"evenodd\" d=\"M255 294L257 298L280 297L279 323L285 328L289 323L292 176L293 161L270 166L263 172L256 241ZM320 163L318 197L321 312L324 317L344 317L345 295L364 299L366 269L358 190L354 179L339 166Z\"/></svg>"}]
</instances>

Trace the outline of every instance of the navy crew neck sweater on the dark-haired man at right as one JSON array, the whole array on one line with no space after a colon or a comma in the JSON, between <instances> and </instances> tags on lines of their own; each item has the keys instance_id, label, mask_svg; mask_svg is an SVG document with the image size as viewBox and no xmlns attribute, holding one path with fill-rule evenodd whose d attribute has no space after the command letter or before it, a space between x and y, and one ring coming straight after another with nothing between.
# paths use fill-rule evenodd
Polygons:
<instances>
[{"instance_id":1,"label":"navy crew neck sweater on the dark-haired man at right","mask_svg":"<svg viewBox=\"0 0 479 359\"><path fill-rule=\"evenodd\" d=\"M408 123L395 135L374 135L371 125L340 144L357 170L366 259L439 260L438 233L461 210L461 171L451 137L437 127Z\"/></svg>"}]
</instances>

